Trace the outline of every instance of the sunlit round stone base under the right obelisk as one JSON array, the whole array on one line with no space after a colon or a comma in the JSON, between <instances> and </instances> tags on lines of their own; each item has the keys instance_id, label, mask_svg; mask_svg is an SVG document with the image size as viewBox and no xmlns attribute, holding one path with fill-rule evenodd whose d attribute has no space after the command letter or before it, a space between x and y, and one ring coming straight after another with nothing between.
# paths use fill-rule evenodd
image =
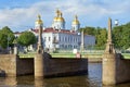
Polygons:
<instances>
[{"instance_id":1,"label":"sunlit round stone base under the right obelisk","mask_svg":"<svg viewBox=\"0 0 130 87\"><path fill-rule=\"evenodd\" d=\"M116 55L105 53L102 60L102 82L103 85L116 84Z\"/></svg>"}]
</instances>

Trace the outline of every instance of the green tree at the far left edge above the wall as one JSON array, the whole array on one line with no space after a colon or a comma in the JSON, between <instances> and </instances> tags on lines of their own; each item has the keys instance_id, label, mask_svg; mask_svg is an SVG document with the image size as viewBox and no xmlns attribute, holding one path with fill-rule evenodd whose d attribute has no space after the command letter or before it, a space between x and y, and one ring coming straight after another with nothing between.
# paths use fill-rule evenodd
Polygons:
<instances>
[{"instance_id":1,"label":"green tree at the far left edge above the wall","mask_svg":"<svg viewBox=\"0 0 130 87\"><path fill-rule=\"evenodd\" d=\"M5 49L8 47L8 45L10 47L13 46L13 40L14 40L15 36L13 34L13 32L8 27L3 27L0 30L0 46Z\"/></svg>"}]
</instances>

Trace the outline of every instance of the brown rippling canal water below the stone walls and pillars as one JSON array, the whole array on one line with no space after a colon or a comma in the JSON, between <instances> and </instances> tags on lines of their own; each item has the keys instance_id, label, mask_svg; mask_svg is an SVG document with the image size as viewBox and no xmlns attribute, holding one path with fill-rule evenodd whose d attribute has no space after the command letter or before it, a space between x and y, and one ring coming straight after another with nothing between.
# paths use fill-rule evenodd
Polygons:
<instances>
[{"instance_id":1,"label":"brown rippling canal water below the stone walls and pillars","mask_svg":"<svg viewBox=\"0 0 130 87\"><path fill-rule=\"evenodd\" d=\"M110 71L108 71L110 72ZM89 63L89 75L38 78L32 75L15 77L0 77L0 87L130 87L128 84L102 86L102 64Z\"/></svg>"}]
</instances>

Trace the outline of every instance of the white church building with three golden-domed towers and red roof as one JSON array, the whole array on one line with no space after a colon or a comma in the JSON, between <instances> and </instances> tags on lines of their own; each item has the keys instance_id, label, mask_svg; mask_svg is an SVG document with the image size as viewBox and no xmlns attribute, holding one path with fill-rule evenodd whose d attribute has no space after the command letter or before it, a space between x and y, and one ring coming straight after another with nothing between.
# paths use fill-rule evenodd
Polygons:
<instances>
[{"instance_id":1,"label":"white church building with three golden-domed towers and red roof","mask_svg":"<svg viewBox=\"0 0 130 87\"><path fill-rule=\"evenodd\" d=\"M36 21L35 29L30 29L36 36L38 36L38 28L43 27L43 22L41 17ZM43 28L42 32L42 45L43 48L50 50L57 49L80 49L81 35L78 34L80 28L80 23L78 16L76 15L72 22L72 29L65 29L65 20L62 16L60 10L56 11L56 16L53 20L52 27ZM83 39L84 47L94 46L95 37L91 35L84 35Z\"/></svg>"}]
</instances>

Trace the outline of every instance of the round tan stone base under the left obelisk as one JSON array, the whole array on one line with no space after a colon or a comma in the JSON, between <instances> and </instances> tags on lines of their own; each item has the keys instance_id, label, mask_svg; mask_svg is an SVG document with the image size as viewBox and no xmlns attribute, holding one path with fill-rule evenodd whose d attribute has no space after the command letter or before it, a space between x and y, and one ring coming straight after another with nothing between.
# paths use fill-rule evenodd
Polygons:
<instances>
[{"instance_id":1,"label":"round tan stone base under the left obelisk","mask_svg":"<svg viewBox=\"0 0 130 87\"><path fill-rule=\"evenodd\" d=\"M43 76L43 54L38 53L35 57L35 77Z\"/></svg>"}]
</instances>

